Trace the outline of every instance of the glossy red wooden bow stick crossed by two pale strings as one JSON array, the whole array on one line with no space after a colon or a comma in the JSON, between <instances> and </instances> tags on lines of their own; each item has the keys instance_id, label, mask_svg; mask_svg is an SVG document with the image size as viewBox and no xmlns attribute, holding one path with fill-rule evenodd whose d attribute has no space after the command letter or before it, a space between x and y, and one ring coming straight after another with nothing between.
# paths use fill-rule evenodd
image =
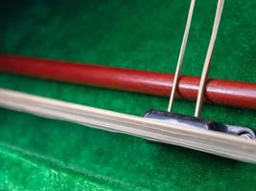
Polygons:
<instances>
[{"instance_id":1,"label":"glossy red wooden bow stick crossed by two pale strings","mask_svg":"<svg viewBox=\"0 0 256 191\"><path fill-rule=\"evenodd\" d=\"M174 74L78 64L16 55L0 55L0 72L23 74L83 85L111 88L155 96L170 96ZM179 78L179 98L196 100L199 77ZM256 109L256 83L208 79L207 102L233 107Z\"/></svg>"}]
</instances>

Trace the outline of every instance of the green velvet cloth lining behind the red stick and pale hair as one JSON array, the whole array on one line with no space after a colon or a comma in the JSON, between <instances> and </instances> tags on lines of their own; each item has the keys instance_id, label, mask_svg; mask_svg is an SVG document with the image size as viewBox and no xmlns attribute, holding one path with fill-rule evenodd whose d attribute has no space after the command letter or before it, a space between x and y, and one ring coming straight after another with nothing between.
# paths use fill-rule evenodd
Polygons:
<instances>
[{"instance_id":1,"label":"green velvet cloth lining behind the red stick and pale hair","mask_svg":"<svg viewBox=\"0 0 256 191\"><path fill-rule=\"evenodd\" d=\"M0 53L174 73L185 0L9 1ZM201 73L217 1L198 0L183 74ZM211 77L256 82L256 2L226 0ZM141 116L168 98L0 74L0 87ZM192 115L195 103L177 100ZM203 117L256 128L256 113ZM255 190L256 165L0 109L0 190Z\"/></svg>"}]
</instances>

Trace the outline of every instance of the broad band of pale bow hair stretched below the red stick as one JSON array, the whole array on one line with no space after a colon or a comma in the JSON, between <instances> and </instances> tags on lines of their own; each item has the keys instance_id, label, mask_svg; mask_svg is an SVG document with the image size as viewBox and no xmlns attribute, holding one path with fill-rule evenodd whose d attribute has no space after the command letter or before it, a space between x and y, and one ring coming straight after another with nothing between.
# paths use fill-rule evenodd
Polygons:
<instances>
[{"instance_id":1,"label":"broad band of pale bow hair stretched below the red stick","mask_svg":"<svg viewBox=\"0 0 256 191\"><path fill-rule=\"evenodd\" d=\"M256 141L0 89L0 106L256 163Z\"/></svg>"}]
</instances>

